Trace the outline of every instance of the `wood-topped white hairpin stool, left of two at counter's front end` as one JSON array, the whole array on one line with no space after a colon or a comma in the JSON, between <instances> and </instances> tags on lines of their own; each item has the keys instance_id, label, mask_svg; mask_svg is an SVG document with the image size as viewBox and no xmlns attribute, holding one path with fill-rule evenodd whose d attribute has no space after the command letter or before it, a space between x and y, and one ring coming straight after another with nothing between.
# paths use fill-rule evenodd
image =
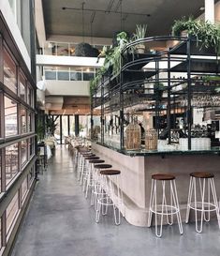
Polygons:
<instances>
[{"instance_id":1,"label":"wood-topped white hairpin stool, left of two at counter's front end","mask_svg":"<svg viewBox=\"0 0 220 256\"><path fill-rule=\"evenodd\" d=\"M161 181L162 186L162 203L157 204L157 181ZM167 203L166 197L166 183L169 183L170 191L170 202ZM158 184L159 185L159 184ZM148 216L148 226L151 227L153 213L155 215L155 235L157 237L162 236L163 230L163 218L167 216L167 222L169 225L173 224L173 215L176 215L179 231L183 234L183 226L180 214L180 206L177 197L177 189L175 176L168 173L157 173L152 175L152 188L151 188L151 197L150 197L150 207L149 207L149 216ZM157 218L160 216L160 230L158 232L157 227ZM170 220L169 220L170 216Z\"/></svg>"}]
</instances>

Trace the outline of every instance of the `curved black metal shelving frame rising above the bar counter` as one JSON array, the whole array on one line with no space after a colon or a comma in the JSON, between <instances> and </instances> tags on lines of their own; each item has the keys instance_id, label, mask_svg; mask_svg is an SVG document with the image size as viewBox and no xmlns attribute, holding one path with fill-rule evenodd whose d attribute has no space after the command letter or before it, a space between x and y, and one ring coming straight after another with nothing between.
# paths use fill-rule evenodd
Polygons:
<instances>
[{"instance_id":1,"label":"curved black metal shelving frame rising above the bar counter","mask_svg":"<svg viewBox=\"0 0 220 256\"><path fill-rule=\"evenodd\" d=\"M167 44L167 49L135 53L136 46L140 43L152 45L158 42ZM178 108L185 108L190 150L194 108L192 98L199 95L220 97L216 91L220 81L212 80L213 76L219 76L219 70L220 61L214 49L201 49L196 38L143 38L126 45L121 55L120 72L112 75L108 70L103 75L101 83L97 84L92 96L92 116L93 109L101 107L101 143L104 143L104 114L120 111L120 147L124 149L125 108L143 101L146 103L146 108L142 111L154 112L155 128L158 132L160 113L166 111L169 143L171 143L170 115ZM162 74L166 76L162 77ZM173 74L178 74L179 77L171 77ZM207 76L210 77L210 81L204 80ZM150 84L154 84L154 87L149 87ZM163 89L160 88L161 84ZM213 108L213 106L201 103L199 108Z\"/></svg>"}]
</instances>

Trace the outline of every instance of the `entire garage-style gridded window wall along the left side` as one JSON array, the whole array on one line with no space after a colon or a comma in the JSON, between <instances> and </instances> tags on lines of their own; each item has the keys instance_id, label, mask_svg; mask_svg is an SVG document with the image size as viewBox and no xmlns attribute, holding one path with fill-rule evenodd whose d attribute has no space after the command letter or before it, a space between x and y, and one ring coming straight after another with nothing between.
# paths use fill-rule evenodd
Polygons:
<instances>
[{"instance_id":1,"label":"entire garage-style gridded window wall along the left side","mask_svg":"<svg viewBox=\"0 0 220 256\"><path fill-rule=\"evenodd\" d=\"M12 9L20 8L22 0L9 0ZM19 4L19 5L17 5ZM15 8L16 7L16 8ZM18 14L21 14L18 9ZM20 17L21 15L18 15ZM22 204L32 191L35 183L35 98L36 87L31 73L25 67L21 53L13 38L7 37L7 27L0 17L2 37L0 37L0 255L12 233L16 233L23 211ZM7 41L4 41L7 38ZM28 134L29 133L29 134ZM31 137L31 138L30 138ZM30 188L30 189L29 189ZM27 203L27 202L25 202ZM26 207L26 205L23 205ZM20 216L19 216L20 215ZM18 218L21 217L21 218ZM18 221L18 222L16 222Z\"/></svg>"}]
</instances>

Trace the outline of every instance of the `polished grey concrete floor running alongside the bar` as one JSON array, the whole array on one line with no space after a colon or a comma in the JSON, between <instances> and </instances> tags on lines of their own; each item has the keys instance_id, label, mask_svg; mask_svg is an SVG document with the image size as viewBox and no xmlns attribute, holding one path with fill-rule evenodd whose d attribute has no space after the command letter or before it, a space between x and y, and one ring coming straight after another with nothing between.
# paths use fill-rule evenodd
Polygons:
<instances>
[{"instance_id":1,"label":"polished grey concrete floor running alongside the bar","mask_svg":"<svg viewBox=\"0 0 220 256\"><path fill-rule=\"evenodd\" d=\"M82 194L72 159L63 146L56 149L48 171L39 182L22 223L13 256L219 256L217 221L196 233L194 223L165 227L163 237L154 229L139 228L112 215L95 223L95 211Z\"/></svg>"}]
</instances>

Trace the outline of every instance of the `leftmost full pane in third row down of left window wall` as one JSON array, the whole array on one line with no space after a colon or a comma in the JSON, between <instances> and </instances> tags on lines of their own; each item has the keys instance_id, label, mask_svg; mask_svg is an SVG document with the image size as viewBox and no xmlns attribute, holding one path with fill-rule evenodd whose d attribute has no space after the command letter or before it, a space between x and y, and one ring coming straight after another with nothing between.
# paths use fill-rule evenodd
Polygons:
<instances>
[{"instance_id":1,"label":"leftmost full pane in third row down of left window wall","mask_svg":"<svg viewBox=\"0 0 220 256\"><path fill-rule=\"evenodd\" d=\"M19 149L18 143L6 147L6 184L19 172Z\"/></svg>"}]
</instances>

